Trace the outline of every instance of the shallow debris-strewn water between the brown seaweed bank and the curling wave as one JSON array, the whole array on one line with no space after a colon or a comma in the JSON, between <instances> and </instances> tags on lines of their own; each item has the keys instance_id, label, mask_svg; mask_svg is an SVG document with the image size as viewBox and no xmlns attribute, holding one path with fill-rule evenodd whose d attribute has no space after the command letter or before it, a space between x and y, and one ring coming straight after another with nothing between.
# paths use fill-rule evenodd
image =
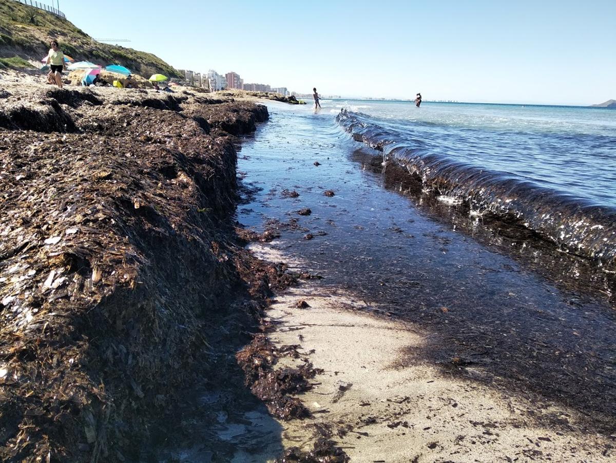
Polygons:
<instances>
[{"instance_id":1,"label":"shallow debris-strewn water between the brown seaweed bank and the curling wave","mask_svg":"<svg viewBox=\"0 0 616 463\"><path fill-rule=\"evenodd\" d=\"M282 236L272 245L306 261L325 289L346 289L431 334L413 358L445 366L458 356L472 380L567 404L593 414L589 428L614 429L616 312L606 274L517 226L406 194L333 113L269 107L270 122L240 152L253 190L241 223L274 224ZM312 214L298 215L306 207Z\"/></svg>"}]
</instances>

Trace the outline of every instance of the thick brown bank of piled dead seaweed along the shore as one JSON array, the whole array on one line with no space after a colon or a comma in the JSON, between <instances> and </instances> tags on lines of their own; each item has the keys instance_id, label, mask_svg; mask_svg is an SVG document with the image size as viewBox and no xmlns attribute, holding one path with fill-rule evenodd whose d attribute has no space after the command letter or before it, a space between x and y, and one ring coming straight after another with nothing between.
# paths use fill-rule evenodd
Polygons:
<instances>
[{"instance_id":1,"label":"thick brown bank of piled dead seaweed along the shore","mask_svg":"<svg viewBox=\"0 0 616 463\"><path fill-rule=\"evenodd\" d=\"M267 287L232 216L234 136L267 118L190 92L2 92L2 461L139 459L180 387L216 375L208 340Z\"/></svg>"}]
</instances>

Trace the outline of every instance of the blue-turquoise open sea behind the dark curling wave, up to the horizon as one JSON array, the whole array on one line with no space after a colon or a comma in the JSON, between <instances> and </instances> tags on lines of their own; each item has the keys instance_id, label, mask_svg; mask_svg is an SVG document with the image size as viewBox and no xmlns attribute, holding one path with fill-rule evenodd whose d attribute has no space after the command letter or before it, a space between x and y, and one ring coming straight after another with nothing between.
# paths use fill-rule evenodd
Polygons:
<instances>
[{"instance_id":1,"label":"blue-turquoise open sea behind the dark curling wave, up to the horizon","mask_svg":"<svg viewBox=\"0 0 616 463\"><path fill-rule=\"evenodd\" d=\"M616 207L616 111L586 107L325 100L411 147Z\"/></svg>"}]
</instances>

